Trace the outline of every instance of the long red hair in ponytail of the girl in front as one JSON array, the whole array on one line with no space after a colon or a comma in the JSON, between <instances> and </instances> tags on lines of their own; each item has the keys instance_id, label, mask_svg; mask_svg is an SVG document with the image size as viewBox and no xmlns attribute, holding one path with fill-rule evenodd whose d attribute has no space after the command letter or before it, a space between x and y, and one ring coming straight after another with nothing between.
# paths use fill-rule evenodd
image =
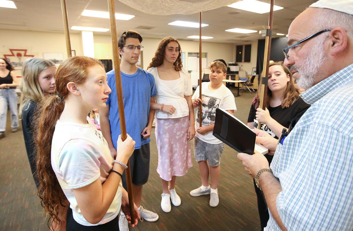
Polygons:
<instances>
[{"instance_id":1,"label":"long red hair in ponytail of the girl in front","mask_svg":"<svg viewBox=\"0 0 353 231\"><path fill-rule=\"evenodd\" d=\"M66 59L55 74L55 94L43 97L35 110L34 144L36 148L37 176L40 186L38 196L44 213L48 215L48 227L50 220L54 224L61 224L59 218L60 208L66 207L66 196L56 178L51 164L51 148L55 129L68 97L68 82L83 84L88 77L88 69L91 66L103 66L101 61L84 56L74 56Z\"/></svg>"}]
</instances>

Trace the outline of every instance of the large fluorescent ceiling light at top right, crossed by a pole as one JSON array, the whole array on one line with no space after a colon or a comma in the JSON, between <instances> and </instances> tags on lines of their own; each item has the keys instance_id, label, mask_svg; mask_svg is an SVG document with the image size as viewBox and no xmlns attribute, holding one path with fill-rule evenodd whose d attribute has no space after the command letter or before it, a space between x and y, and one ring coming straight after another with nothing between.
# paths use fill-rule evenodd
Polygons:
<instances>
[{"instance_id":1,"label":"large fluorescent ceiling light at top right, crossed by a pole","mask_svg":"<svg viewBox=\"0 0 353 231\"><path fill-rule=\"evenodd\" d=\"M239 2L235 2L232 5L228 5L229 7L236 8L239 10L250 11L254 13L268 13L270 12L270 4L266 2L256 1L256 0L243 0ZM281 6L273 6L273 11L281 10L283 7Z\"/></svg>"}]
</instances>

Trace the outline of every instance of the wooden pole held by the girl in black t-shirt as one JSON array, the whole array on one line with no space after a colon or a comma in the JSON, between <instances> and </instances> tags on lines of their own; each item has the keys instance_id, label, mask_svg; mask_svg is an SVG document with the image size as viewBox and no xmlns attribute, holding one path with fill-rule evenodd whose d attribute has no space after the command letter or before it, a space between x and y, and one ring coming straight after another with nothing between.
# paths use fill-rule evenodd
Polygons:
<instances>
[{"instance_id":1,"label":"wooden pole held by the girl in black t-shirt","mask_svg":"<svg viewBox=\"0 0 353 231\"><path fill-rule=\"evenodd\" d=\"M270 17L268 20L268 26L266 27L266 38L265 38L265 52L264 52L264 63L261 75L261 91L260 91L260 105L259 108L265 110L266 105L264 102L267 100L267 83L268 83L268 69L270 63L271 53L271 41L272 41L272 28L273 28L273 6L274 0L270 0ZM258 122L257 129L261 129L261 123Z\"/></svg>"}]
</instances>

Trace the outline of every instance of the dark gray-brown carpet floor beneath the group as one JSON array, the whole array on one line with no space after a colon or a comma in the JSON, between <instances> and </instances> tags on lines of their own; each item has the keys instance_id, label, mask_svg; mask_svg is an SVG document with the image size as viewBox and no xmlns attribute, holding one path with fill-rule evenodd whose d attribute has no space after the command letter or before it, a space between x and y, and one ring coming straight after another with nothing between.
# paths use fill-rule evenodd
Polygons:
<instances>
[{"instance_id":1,"label":"dark gray-brown carpet floor beneath the group","mask_svg":"<svg viewBox=\"0 0 353 231\"><path fill-rule=\"evenodd\" d=\"M237 94L236 89L231 90L234 95ZM241 94L243 95L235 97L238 110L234 115L246 123L255 93L247 91ZM252 179L232 148L226 146L221 159L219 205L210 207L209 195L190 196L189 192L201 185L197 162L193 160L193 167L187 174L177 178L176 190L181 198L181 205L172 206L170 213L164 213L160 207L162 187L156 172L158 153L154 129L150 148L150 177L143 188L142 206L158 213L159 220L152 223L139 222L136 228L130 230L260 230ZM0 176L0 230L48 230L31 175L22 128L11 133L9 116L6 137L0 139Z\"/></svg>"}]
</instances>

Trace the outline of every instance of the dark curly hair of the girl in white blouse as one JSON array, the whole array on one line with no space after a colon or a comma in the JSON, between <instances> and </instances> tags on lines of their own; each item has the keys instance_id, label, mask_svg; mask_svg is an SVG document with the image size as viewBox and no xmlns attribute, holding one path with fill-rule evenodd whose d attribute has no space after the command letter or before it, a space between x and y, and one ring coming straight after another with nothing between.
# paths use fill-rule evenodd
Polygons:
<instances>
[{"instance_id":1,"label":"dark curly hair of the girl in white blouse","mask_svg":"<svg viewBox=\"0 0 353 231\"><path fill-rule=\"evenodd\" d=\"M181 61L181 47L180 43L178 40L172 38L172 37L166 37L164 38L158 45L157 51L155 53L155 56L152 58L152 62L150 65L147 67L147 69L151 67L158 67L163 64L163 59L164 59L164 54L166 53L166 47L168 43L170 42L177 42L179 46L179 55L177 60L174 62L174 69L175 71L181 71L181 67L183 67L182 61Z\"/></svg>"}]
</instances>

